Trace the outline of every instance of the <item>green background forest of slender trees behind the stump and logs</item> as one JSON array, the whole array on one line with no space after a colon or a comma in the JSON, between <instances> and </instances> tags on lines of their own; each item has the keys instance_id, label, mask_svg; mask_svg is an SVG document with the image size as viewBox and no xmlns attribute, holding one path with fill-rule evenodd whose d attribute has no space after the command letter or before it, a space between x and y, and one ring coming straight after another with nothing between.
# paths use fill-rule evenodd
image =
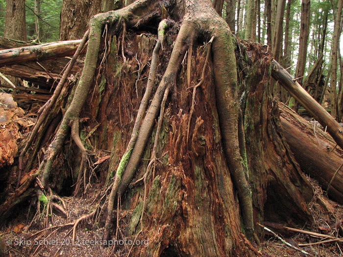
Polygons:
<instances>
[{"instance_id":1,"label":"green background forest of slender trees behind the stump and logs","mask_svg":"<svg viewBox=\"0 0 343 257\"><path fill-rule=\"evenodd\" d=\"M300 84L305 82L306 85L303 87L329 112L333 109L331 115L341 121L342 43L337 56L338 62L335 65L337 75L334 81L331 78L334 72L331 69L331 56L334 50L333 35L338 1L235 0L232 2L217 0L217 5L221 6L218 7L222 9L221 16L226 19L230 27L235 27L234 32L238 38L268 44L270 50L273 49L275 60L279 61L285 69L288 68L287 70L292 75L300 77L298 82ZM68 1L65 0L65 2ZM308 9L306 13L303 11L303 17L302 4L307 5ZM0 0L0 36L3 36L4 31L5 5L6 1ZM26 0L27 40L38 40L43 43L62 40L63 38L60 37L61 9L62 0ZM342 15L342 11L340 13ZM229 17L234 17L234 19L229 19ZM304 24L309 24L303 31L300 29L301 19ZM282 33L275 33L278 27ZM252 28L251 34L247 32L250 28ZM342 34L342 20L338 34L340 36ZM303 36L300 37L300 35ZM275 45L277 46L274 47ZM310 76L305 79L308 74ZM332 88L336 90L332 91ZM296 103L294 106L293 99L289 99L288 94L280 87L276 87L274 93L279 100L288 101L290 107L294 110L298 109Z\"/></svg>"}]
</instances>

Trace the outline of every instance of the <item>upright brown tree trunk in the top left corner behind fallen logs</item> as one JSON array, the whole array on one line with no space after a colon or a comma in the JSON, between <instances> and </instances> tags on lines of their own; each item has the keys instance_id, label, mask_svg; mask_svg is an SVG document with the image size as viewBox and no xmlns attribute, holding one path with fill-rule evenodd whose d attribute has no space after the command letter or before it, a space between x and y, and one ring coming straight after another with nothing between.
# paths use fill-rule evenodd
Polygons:
<instances>
[{"instance_id":1,"label":"upright brown tree trunk in the top left corner behind fallen logs","mask_svg":"<svg viewBox=\"0 0 343 257\"><path fill-rule=\"evenodd\" d=\"M25 0L6 0L3 36L26 41Z\"/></svg>"}]
</instances>

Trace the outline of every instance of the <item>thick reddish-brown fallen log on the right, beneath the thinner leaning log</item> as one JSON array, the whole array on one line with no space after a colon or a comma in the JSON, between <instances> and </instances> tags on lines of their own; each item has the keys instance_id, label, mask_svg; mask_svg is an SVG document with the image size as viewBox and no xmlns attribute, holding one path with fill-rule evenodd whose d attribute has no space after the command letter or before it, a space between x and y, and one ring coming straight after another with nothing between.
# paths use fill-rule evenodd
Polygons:
<instances>
[{"instance_id":1,"label":"thick reddish-brown fallen log on the right, beneath the thinner leaning log","mask_svg":"<svg viewBox=\"0 0 343 257\"><path fill-rule=\"evenodd\" d=\"M280 113L283 135L299 163L302 171L316 179L326 190L336 170L343 164L343 151L335 148L335 141L324 134L316 125L300 117L288 107ZM335 148L335 149L334 149ZM333 180L328 195L339 203L343 203L343 171L339 170Z\"/></svg>"}]
</instances>

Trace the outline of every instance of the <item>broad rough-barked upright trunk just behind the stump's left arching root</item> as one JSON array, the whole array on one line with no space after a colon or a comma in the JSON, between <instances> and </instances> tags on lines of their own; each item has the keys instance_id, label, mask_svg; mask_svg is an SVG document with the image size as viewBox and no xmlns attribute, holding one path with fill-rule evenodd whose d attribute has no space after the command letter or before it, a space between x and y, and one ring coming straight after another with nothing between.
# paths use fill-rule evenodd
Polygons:
<instances>
[{"instance_id":1,"label":"broad rough-barked upright trunk just behind the stump's left arching root","mask_svg":"<svg viewBox=\"0 0 343 257\"><path fill-rule=\"evenodd\" d=\"M60 40L81 39L88 28L90 18L99 13L101 7L101 0L63 0Z\"/></svg>"}]
</instances>

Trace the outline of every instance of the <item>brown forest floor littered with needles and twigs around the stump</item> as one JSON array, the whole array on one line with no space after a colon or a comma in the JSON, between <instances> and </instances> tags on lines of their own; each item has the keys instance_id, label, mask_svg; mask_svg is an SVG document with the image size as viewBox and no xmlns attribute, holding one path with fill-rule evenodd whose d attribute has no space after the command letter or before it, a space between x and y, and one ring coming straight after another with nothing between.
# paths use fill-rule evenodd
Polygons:
<instances>
[{"instance_id":1,"label":"brown forest floor littered with needles and twigs around the stump","mask_svg":"<svg viewBox=\"0 0 343 257\"><path fill-rule=\"evenodd\" d=\"M21 107L24 106L21 105ZM37 104L26 107L30 111L28 112L26 109L25 113L29 114L39 109ZM28 119L27 124L33 124L32 116L25 117ZM21 118L22 122L24 122L25 117ZM25 138L25 135L23 137ZM327 234L333 237L342 237L343 207L329 200L315 180L309 178L309 181L314 190L314 197L310 203L314 222L311 225L305 225L303 228L297 229ZM48 216L46 215L46 210L41 210L38 213L36 206L33 205L30 208L29 203L26 206L18 207L14 210L12 217L8 219L7 223L3 224L0 228L0 257L1 252L4 253L3 256L8 257L119 257L128 256L130 248L136 247L137 244L148 247L148 242L144 240L135 241L134 236L127 235L125 228L131 213L124 209L120 210L119 213L114 213L116 216L118 214L120 221L118 230L115 228L111 233L112 235L117 234L117 237L115 237L117 239L113 238L110 241L112 245L109 247L104 247L104 243L101 240L104 227L104 220L101 217L81 222L76 229L75 241L72 241L73 222L94 210L96 203L103 193L103 185L94 181L92 187L87 189L85 195L62 197L67 205L67 218L55 210L52 215ZM48 219L49 224L47 228L44 227L46 219ZM265 226L268 227L267 225ZM273 230L273 228L269 228ZM282 233L284 231L275 230L274 232L280 233L279 235L287 242L308 252L310 256L343 256L342 242L300 246L299 244L311 244L319 240L327 240L327 238L316 238L304 233L292 234L289 231L285 234ZM266 233L265 240L261 241L260 246L256 245L256 248L264 257L305 256L268 233Z\"/></svg>"}]
</instances>

